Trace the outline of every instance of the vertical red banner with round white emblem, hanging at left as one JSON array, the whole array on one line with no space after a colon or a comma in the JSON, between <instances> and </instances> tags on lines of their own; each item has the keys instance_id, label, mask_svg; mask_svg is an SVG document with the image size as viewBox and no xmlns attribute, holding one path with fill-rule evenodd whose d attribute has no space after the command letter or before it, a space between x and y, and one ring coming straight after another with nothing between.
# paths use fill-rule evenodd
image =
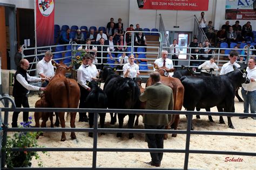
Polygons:
<instances>
[{"instance_id":1,"label":"vertical red banner with round white emblem, hanging at left","mask_svg":"<svg viewBox=\"0 0 256 170\"><path fill-rule=\"evenodd\" d=\"M36 0L37 46L54 44L54 0Z\"/></svg>"}]
</instances>

